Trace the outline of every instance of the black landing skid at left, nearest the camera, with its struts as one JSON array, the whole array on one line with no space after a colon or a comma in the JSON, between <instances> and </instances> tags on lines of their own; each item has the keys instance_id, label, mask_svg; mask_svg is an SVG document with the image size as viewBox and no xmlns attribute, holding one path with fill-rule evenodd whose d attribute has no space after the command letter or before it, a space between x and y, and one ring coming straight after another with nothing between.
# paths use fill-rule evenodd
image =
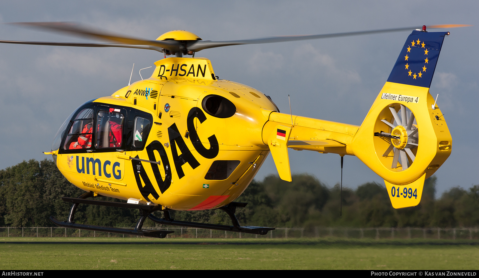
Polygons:
<instances>
[{"instance_id":1,"label":"black landing skid at left, nearest the camera, with its struts","mask_svg":"<svg viewBox=\"0 0 479 278\"><path fill-rule=\"evenodd\" d=\"M79 198L68 198L62 197L62 200L66 202L72 202L70 213L68 214L68 220L66 222L60 222L54 216L50 216L50 221L55 223L57 226L63 228L73 228L73 229L82 229L90 231L99 231L99 232L109 232L109 233L118 233L118 234L132 234L132 235L142 235L148 237L157 237L164 238L167 234L174 233L173 231L164 231L164 230L143 230L143 222L145 222L148 215L153 211L158 211L161 206L148 206L148 205L137 205L137 204L128 204L128 203L119 203L119 202L110 202L110 201L98 201L98 200L86 200L86 198L93 197L92 192L87 192L82 194ZM117 207L117 208L130 208L130 209L139 209L141 211L141 217L138 219L137 225L134 229L123 229L123 228L114 228L114 227L103 227L87 224L77 224L73 221L75 217L75 211L79 204L91 204L91 205L100 205L108 207Z\"/></svg>"}]
</instances>

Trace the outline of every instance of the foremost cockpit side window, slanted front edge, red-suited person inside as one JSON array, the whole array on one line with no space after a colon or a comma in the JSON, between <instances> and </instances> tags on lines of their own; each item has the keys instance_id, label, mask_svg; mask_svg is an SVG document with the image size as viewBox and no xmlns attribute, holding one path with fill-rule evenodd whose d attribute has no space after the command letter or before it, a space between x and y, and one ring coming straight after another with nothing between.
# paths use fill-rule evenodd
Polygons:
<instances>
[{"instance_id":1,"label":"foremost cockpit side window, slanted front edge, red-suited person inside","mask_svg":"<svg viewBox=\"0 0 479 278\"><path fill-rule=\"evenodd\" d=\"M84 108L75 116L63 148L65 150L91 148L92 133L93 109Z\"/></svg>"}]
</instances>

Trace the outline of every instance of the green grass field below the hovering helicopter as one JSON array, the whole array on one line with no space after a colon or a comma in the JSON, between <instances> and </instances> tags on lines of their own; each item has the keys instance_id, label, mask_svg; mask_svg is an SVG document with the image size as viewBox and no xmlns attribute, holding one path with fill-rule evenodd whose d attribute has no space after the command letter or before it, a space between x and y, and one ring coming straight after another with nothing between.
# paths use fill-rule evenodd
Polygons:
<instances>
[{"instance_id":1,"label":"green grass field below the hovering helicopter","mask_svg":"<svg viewBox=\"0 0 479 278\"><path fill-rule=\"evenodd\" d=\"M474 240L0 238L2 269L477 269Z\"/></svg>"}]
</instances>

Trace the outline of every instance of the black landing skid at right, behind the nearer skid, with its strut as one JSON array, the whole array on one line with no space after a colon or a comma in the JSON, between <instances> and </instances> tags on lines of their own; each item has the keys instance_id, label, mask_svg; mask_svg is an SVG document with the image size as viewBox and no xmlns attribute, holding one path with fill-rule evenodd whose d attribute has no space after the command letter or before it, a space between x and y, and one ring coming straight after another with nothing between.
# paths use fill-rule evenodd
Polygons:
<instances>
[{"instance_id":1,"label":"black landing skid at right, behind the nearer skid, with its strut","mask_svg":"<svg viewBox=\"0 0 479 278\"><path fill-rule=\"evenodd\" d=\"M163 224L163 225L174 225L174 226L183 226L183 227L192 227L192 228L202 228L202 229L212 229L212 230L220 230L220 231L230 231L230 232L238 232L238 233L247 233L247 234L267 234L268 231L274 230L274 228L269 227L258 227L258 226L240 226L238 222L238 218L236 218L235 211L237 207L244 208L246 207L247 203L239 203L239 202L231 202L226 206L218 208L219 210L225 211L228 213L229 218L231 218L231 222L233 222L233 226L227 225L217 225L217 224L208 224L208 223L198 223L198 222L187 222L187 221L177 221L171 219L170 211L164 210L163 215L164 218L158 218L152 214L148 215L148 218L151 219L153 222Z\"/></svg>"}]
</instances>

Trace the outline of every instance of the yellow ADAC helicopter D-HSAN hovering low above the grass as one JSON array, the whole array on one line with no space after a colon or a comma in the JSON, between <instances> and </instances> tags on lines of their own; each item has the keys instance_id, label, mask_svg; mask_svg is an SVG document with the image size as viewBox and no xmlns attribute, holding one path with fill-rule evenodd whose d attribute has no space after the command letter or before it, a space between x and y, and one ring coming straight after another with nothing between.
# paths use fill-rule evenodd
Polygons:
<instances>
[{"instance_id":1,"label":"yellow ADAC helicopter D-HSAN hovering low above the grass","mask_svg":"<svg viewBox=\"0 0 479 278\"><path fill-rule=\"evenodd\" d=\"M86 191L72 202L61 227L164 238L172 231L142 229L152 221L250 234L274 228L241 226L234 202L271 152L280 178L291 181L288 148L357 156L384 179L394 208L419 204L425 178L451 154L444 115L429 93L449 32L416 27L253 40L203 41L187 31L144 40L68 22L19 22L114 43L0 41L83 47L128 47L163 53L150 78L89 100L65 120L52 151L60 172ZM454 28L466 25L433 25ZM280 113L271 97L215 75L211 62L194 57L207 48L413 30L391 74L360 126ZM174 55L175 57L166 56ZM191 57L184 57L191 56ZM107 196L127 202L94 200ZM93 198L93 199L87 199ZM139 209L133 229L74 222L80 203ZM175 221L171 210L226 211L232 225ZM163 218L152 214L163 211Z\"/></svg>"}]
</instances>

